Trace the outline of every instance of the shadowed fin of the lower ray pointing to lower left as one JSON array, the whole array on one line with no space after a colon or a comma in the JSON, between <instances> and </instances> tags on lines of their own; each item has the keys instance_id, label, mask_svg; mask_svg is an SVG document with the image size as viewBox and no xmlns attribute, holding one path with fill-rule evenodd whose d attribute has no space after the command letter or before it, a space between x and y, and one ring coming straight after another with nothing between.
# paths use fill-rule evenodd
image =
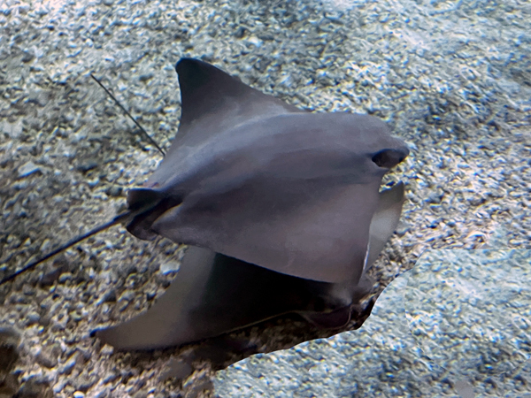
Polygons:
<instances>
[{"instance_id":1,"label":"shadowed fin of the lower ray pointing to lower left","mask_svg":"<svg viewBox=\"0 0 531 398\"><path fill-rule=\"evenodd\" d=\"M165 348L304 310L325 284L189 247L172 285L145 313L96 331L118 349Z\"/></svg>"}]
</instances>

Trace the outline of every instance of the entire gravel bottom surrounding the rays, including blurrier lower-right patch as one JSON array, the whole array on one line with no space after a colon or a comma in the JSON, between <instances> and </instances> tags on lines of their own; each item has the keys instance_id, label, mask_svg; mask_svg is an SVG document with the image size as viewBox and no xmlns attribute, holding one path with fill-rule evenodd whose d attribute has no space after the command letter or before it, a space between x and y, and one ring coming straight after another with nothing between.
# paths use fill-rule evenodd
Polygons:
<instances>
[{"instance_id":1,"label":"entire gravel bottom surrounding the rays, including blurrier lower-right patch","mask_svg":"<svg viewBox=\"0 0 531 398\"><path fill-rule=\"evenodd\" d=\"M2 278L111 220L162 160L90 73L164 149L179 126L181 57L301 109L371 114L410 149L384 178L406 192L370 272L373 295L389 290L358 330L269 320L231 333L263 354L221 366L190 360L202 344L115 350L91 332L156 301L182 247L114 226L0 287L0 397L531 394L530 25L531 4L516 0L0 3ZM432 265L479 249L501 260L464 263L445 302L441 279L458 268ZM451 295L463 284L490 289L489 300L460 295L468 318Z\"/></svg>"}]
</instances>

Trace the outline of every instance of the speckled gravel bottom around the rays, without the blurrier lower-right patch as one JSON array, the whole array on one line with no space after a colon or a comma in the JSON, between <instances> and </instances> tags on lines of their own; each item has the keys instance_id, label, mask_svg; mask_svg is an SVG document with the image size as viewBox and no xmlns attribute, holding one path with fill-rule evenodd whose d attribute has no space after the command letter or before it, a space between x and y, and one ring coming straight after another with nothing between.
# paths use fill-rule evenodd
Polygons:
<instances>
[{"instance_id":1,"label":"speckled gravel bottom around the rays, without the blurrier lower-right patch","mask_svg":"<svg viewBox=\"0 0 531 398\"><path fill-rule=\"evenodd\" d=\"M369 112L410 144L388 177L407 194L373 267L377 293L426 249L479 249L495 231L507 249L531 249L530 25L531 4L518 0L4 1L0 275L111 219L161 160L89 73L167 148L180 57L301 108ZM208 362L184 380L162 376L189 348L115 353L89 337L146 309L179 250L114 227L0 287L0 396L211 396ZM270 352L330 334L286 318L235 335ZM530 383L522 376L522 391ZM422 396L388 385L356 396Z\"/></svg>"}]
</instances>

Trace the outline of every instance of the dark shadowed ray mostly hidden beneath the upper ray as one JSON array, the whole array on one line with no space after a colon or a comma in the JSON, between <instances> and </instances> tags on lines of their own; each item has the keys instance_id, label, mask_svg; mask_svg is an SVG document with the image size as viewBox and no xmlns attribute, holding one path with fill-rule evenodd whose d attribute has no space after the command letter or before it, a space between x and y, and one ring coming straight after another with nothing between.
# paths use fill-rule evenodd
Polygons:
<instances>
[{"instance_id":1,"label":"dark shadowed ray mostly hidden beneath the upper ray","mask_svg":"<svg viewBox=\"0 0 531 398\"><path fill-rule=\"evenodd\" d=\"M402 183L381 192L367 258L380 254L396 228L403 202ZM96 335L119 349L166 348L289 312L318 327L335 329L350 321L351 306L372 287L365 272L356 285L318 282L190 246L176 279L150 310Z\"/></svg>"}]
</instances>

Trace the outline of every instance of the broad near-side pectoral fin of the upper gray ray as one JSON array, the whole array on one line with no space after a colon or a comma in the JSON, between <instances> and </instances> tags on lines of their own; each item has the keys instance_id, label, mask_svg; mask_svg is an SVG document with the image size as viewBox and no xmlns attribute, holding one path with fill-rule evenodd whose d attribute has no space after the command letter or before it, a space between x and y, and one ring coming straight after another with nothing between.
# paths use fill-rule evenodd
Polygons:
<instances>
[{"instance_id":1,"label":"broad near-side pectoral fin of the upper gray ray","mask_svg":"<svg viewBox=\"0 0 531 398\"><path fill-rule=\"evenodd\" d=\"M273 188L251 181L219 194L190 195L151 228L172 241L212 249L275 272L328 283L357 283L378 182L329 189L311 203L297 205L298 186L283 188L284 195L277 200L270 192Z\"/></svg>"}]
</instances>

